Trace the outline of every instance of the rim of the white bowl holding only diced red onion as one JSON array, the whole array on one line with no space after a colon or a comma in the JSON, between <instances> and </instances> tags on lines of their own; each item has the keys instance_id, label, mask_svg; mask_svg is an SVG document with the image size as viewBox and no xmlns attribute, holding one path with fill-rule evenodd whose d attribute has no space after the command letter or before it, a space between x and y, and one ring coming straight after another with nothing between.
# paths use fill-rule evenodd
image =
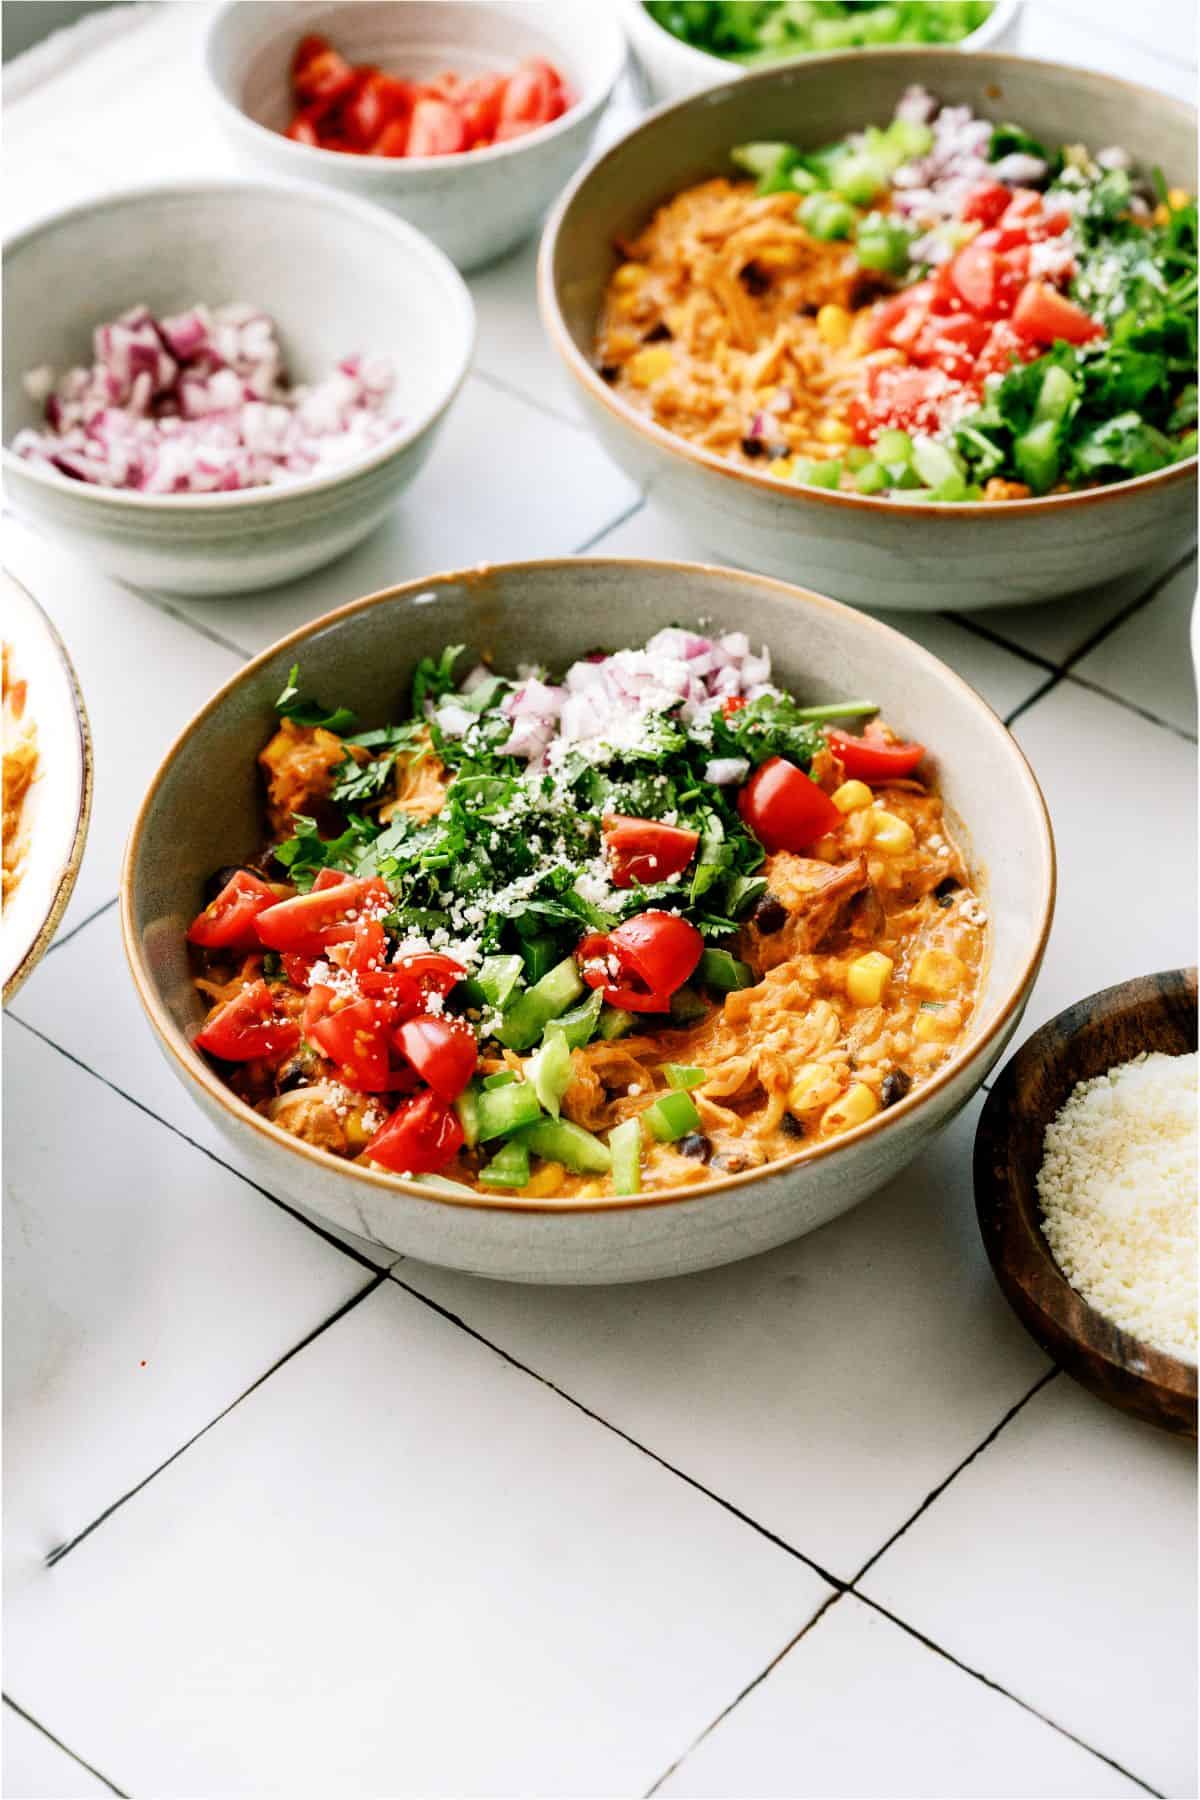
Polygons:
<instances>
[{"instance_id":1,"label":"rim of the white bowl holding only diced red onion","mask_svg":"<svg viewBox=\"0 0 1200 1800\"><path fill-rule=\"evenodd\" d=\"M223 193L257 193L264 196L284 194L295 202L327 205L335 212L358 218L362 225L371 225L372 230L383 232L385 236L390 234L398 248L407 248L414 254L417 263L423 261L426 275L435 275L441 283L443 304L452 302L459 311L459 351L450 374L434 401L428 403L416 419L403 421L403 425L381 445L376 445L372 450L365 450L362 455L344 463L327 475L317 475L311 479L304 477L295 482L277 482L264 488L239 488L236 493L139 493L128 488L101 488L86 481L67 482L52 470L40 468L36 463L16 455L11 445L5 443L0 446L0 459L11 475L32 481L38 486L47 488L50 493L79 495L88 502L126 511L130 517L139 513L167 513L178 517L196 513L232 513L255 506L281 506L286 500L295 500L297 497L308 500L313 495L329 493L358 475L369 475L385 463L390 463L394 455L414 445L432 425L437 423L437 419L443 418L462 387L462 382L470 374L471 362L475 360L479 326L471 290L446 252L439 250L437 245L425 236L425 232L417 230L417 227L410 225L407 220L398 218L394 212L387 212L385 209L372 205L372 202L363 200L358 194L347 194L336 187L326 187L320 182L286 182L266 180L264 176L236 175L212 178L187 176L176 182L146 182L133 187L119 187L115 193L104 194L99 200L83 200L76 205L61 207L58 212L49 212L43 218L34 220L32 225L27 225L23 230L4 239L4 261L7 265L11 257L20 256L20 252L25 250L34 239L49 238L59 230L59 227L70 225L79 218L95 218L97 214L122 211L130 203L137 205L140 202L166 198L207 198Z\"/></svg>"}]
</instances>

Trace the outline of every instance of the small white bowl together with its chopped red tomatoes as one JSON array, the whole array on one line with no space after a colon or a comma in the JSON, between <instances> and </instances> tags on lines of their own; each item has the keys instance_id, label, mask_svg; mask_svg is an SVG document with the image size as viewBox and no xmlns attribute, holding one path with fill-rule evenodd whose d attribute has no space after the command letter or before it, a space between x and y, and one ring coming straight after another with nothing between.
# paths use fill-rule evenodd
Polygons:
<instances>
[{"instance_id":1,"label":"small white bowl together with its chopped red tomatoes","mask_svg":"<svg viewBox=\"0 0 1200 1800\"><path fill-rule=\"evenodd\" d=\"M608 7L228 0L205 68L234 148L410 220L477 268L587 155L624 61Z\"/></svg>"}]
</instances>

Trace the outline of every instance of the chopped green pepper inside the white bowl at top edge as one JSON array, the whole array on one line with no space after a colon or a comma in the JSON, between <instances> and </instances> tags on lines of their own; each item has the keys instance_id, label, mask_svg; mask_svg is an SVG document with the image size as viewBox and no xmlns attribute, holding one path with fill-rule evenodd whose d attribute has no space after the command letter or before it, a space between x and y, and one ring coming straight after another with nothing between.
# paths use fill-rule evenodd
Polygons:
<instances>
[{"instance_id":1,"label":"chopped green pepper inside the white bowl at top edge","mask_svg":"<svg viewBox=\"0 0 1200 1800\"><path fill-rule=\"evenodd\" d=\"M876 43L959 43L991 0L646 0L658 25L747 68Z\"/></svg>"}]
</instances>

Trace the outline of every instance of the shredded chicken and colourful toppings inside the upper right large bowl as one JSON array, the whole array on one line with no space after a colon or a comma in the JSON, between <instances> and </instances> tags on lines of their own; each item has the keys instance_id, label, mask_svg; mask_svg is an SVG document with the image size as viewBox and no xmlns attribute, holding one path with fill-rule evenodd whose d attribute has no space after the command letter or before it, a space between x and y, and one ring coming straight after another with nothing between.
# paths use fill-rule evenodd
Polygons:
<instances>
[{"instance_id":1,"label":"shredded chicken and colourful toppings inside the upper right large bowl","mask_svg":"<svg viewBox=\"0 0 1200 1800\"><path fill-rule=\"evenodd\" d=\"M905 94L887 128L732 151L622 245L603 378L777 479L1011 500L1196 454L1196 205Z\"/></svg>"}]
</instances>

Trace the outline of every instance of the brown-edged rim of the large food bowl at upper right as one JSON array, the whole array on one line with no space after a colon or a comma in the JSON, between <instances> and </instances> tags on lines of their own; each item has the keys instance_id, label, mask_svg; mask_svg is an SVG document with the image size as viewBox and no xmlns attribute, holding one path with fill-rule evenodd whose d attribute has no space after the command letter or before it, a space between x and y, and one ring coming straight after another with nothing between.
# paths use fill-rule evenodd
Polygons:
<instances>
[{"instance_id":1,"label":"brown-edged rim of the large food bowl at upper right","mask_svg":"<svg viewBox=\"0 0 1200 1800\"><path fill-rule=\"evenodd\" d=\"M689 94L678 101L667 101L664 106L655 106L653 112L646 113L630 131L624 133L615 144L601 155L588 162L563 189L560 200L556 202L551 216L545 221L542 232L542 243L538 247L538 311L542 313L542 324L551 338L551 344L565 362L570 374L579 382L592 400L597 400L626 427L640 432L660 450L669 450L675 455L684 457L687 463L694 463L698 468L707 468L712 475L723 475L727 481L738 481L745 486L757 488L759 493L772 495L777 500L797 500L806 504L847 508L851 511L862 513L894 513L901 518L928 518L930 513L937 518L968 518L977 524L986 518L1024 518L1029 515L1047 513L1051 509L1063 508L1083 508L1097 506L1105 500L1114 500L1123 493L1144 491L1146 488L1166 488L1177 481L1187 481L1196 475L1196 455L1186 457L1182 463L1171 463L1168 468L1159 468L1151 475L1133 475L1128 481L1114 481L1105 488L1081 488L1076 493L1043 493L1029 500L923 500L912 504L912 500L891 500L869 493L842 493L831 488L811 488L806 484L790 484L777 481L770 475L759 475L757 470L741 468L741 464L729 461L729 457L720 457L712 450L700 450L687 437L680 437L675 432L666 430L662 425L655 425L653 419L644 418L635 407L630 407L624 400L619 400L613 391L601 382L599 374L587 360L587 356L576 349L574 338L567 329L567 322L561 315L558 304L558 293L554 290L552 259L558 243L558 232L567 218L576 194L590 180L590 176L601 169L617 151L624 149L630 139L637 137L640 131L648 131L658 122L666 113L682 112L687 106L698 103L712 103L716 94L727 94L730 90L752 88L756 83L766 83L775 79L783 70L797 72L808 68L828 68L831 76L842 65L862 63L864 56L871 58L900 58L900 56L918 56L930 61L946 56L961 58L963 50L950 45L876 45L869 50L837 50L828 56L806 56L793 63L781 63L775 68L759 68L747 76L739 76L734 81L725 81L712 88L703 88L700 94ZM1011 63L1015 68L1051 68L1061 74L1067 65L1049 63L1033 56L1015 56L1011 50L979 50L972 52L972 63L982 58L995 58L1000 63ZM1142 99L1150 99L1160 104L1168 112L1177 112L1180 122L1187 122L1195 135L1196 130L1196 108L1189 106L1187 101L1175 99L1169 94L1159 94L1157 88L1144 88L1137 81L1126 81L1123 76L1103 76L1092 68L1070 68L1072 76L1081 81L1101 83L1110 88L1123 88L1130 94L1139 94Z\"/></svg>"}]
</instances>

